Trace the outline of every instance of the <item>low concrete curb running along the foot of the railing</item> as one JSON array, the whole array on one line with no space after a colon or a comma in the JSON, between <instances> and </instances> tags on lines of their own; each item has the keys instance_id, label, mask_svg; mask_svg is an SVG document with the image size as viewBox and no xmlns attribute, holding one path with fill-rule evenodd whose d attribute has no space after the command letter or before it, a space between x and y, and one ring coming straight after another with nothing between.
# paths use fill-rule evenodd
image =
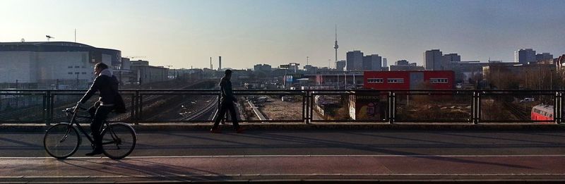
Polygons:
<instances>
[{"instance_id":1,"label":"low concrete curb running along the foot of the railing","mask_svg":"<svg viewBox=\"0 0 565 184\"><path fill-rule=\"evenodd\" d=\"M88 124L82 124L88 128ZM212 123L139 123L136 131L210 130ZM565 130L562 124L533 123L242 123L248 130ZM44 124L1 124L0 132L42 132ZM231 123L220 125L223 130L232 130Z\"/></svg>"}]
</instances>

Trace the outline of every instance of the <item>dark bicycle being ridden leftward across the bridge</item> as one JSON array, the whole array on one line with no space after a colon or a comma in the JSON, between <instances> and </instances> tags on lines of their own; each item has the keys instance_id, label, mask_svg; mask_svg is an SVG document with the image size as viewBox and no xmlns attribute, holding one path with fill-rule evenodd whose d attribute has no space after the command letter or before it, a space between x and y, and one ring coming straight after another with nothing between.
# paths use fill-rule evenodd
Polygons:
<instances>
[{"instance_id":1,"label":"dark bicycle being ridden leftward across the bridge","mask_svg":"<svg viewBox=\"0 0 565 184\"><path fill-rule=\"evenodd\" d=\"M86 118L92 119L90 116L81 116L78 114L78 109L85 111L86 109L78 108L78 105L74 108L67 108L63 112L71 117L69 123L61 122L52 125L51 128L45 131L43 137L43 146L47 154L51 155L56 159L66 159L71 157L81 145L82 139L81 135L78 134L78 130L85 135L85 137L90 141L90 146L94 149L94 140L82 126L77 123L76 118ZM133 149L136 147L137 135L133 128L126 123L108 123L104 121L102 125L102 131L100 131L102 137L102 150L106 157L110 159L123 159L127 157Z\"/></svg>"}]
</instances>

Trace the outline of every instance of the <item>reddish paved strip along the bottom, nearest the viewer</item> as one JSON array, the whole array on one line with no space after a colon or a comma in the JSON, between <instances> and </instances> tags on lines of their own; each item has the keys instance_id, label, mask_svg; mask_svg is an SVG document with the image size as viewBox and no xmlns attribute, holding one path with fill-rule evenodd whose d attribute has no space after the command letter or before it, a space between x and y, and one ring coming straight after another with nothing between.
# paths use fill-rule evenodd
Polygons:
<instances>
[{"instance_id":1,"label":"reddish paved strip along the bottom, nearest the viewer","mask_svg":"<svg viewBox=\"0 0 565 184\"><path fill-rule=\"evenodd\" d=\"M565 155L217 156L0 159L0 183L241 182L333 180L565 183Z\"/></svg>"}]
</instances>

